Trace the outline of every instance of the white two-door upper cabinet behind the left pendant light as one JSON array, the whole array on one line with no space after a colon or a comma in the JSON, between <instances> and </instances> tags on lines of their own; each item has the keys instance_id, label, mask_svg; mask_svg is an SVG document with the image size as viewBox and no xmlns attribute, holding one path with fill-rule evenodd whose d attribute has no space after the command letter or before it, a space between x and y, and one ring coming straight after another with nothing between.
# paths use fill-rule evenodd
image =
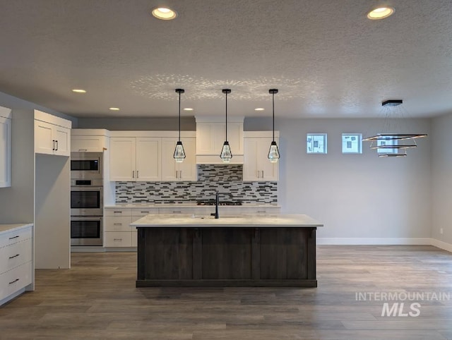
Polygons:
<instances>
[{"instance_id":1,"label":"white two-door upper cabinet behind the left pendant light","mask_svg":"<svg viewBox=\"0 0 452 340\"><path fill-rule=\"evenodd\" d=\"M184 145L184 162L174 160L177 138L162 138L162 181L196 181L195 138L181 138Z\"/></svg>"}]
</instances>

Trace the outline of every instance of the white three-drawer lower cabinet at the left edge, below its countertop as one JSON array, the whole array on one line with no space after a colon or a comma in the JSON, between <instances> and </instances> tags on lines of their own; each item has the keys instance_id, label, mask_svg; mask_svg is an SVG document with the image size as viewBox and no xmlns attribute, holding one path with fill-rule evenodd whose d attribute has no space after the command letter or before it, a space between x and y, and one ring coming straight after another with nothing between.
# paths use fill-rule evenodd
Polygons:
<instances>
[{"instance_id":1,"label":"white three-drawer lower cabinet at the left edge, below its countertop","mask_svg":"<svg viewBox=\"0 0 452 340\"><path fill-rule=\"evenodd\" d=\"M32 283L32 270L32 226L1 232L0 305Z\"/></svg>"}]
</instances>

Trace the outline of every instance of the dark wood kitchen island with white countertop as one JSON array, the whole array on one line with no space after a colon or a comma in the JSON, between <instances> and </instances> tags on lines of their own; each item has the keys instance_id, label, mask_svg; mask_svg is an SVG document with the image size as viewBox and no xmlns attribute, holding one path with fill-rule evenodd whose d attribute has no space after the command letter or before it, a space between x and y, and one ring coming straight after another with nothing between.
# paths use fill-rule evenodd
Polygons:
<instances>
[{"instance_id":1,"label":"dark wood kitchen island with white countertop","mask_svg":"<svg viewBox=\"0 0 452 340\"><path fill-rule=\"evenodd\" d=\"M138 229L137 287L316 287L316 229L305 214L148 214Z\"/></svg>"}]
</instances>

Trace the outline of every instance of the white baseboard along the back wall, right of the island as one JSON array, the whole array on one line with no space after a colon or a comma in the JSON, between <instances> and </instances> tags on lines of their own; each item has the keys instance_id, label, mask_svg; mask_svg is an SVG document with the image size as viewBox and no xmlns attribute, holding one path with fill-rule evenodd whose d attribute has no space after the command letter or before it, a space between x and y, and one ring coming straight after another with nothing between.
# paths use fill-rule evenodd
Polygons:
<instances>
[{"instance_id":1,"label":"white baseboard along the back wall, right of the island","mask_svg":"<svg viewBox=\"0 0 452 340\"><path fill-rule=\"evenodd\" d=\"M319 237L317 245L432 245L432 238Z\"/></svg>"}]
</instances>

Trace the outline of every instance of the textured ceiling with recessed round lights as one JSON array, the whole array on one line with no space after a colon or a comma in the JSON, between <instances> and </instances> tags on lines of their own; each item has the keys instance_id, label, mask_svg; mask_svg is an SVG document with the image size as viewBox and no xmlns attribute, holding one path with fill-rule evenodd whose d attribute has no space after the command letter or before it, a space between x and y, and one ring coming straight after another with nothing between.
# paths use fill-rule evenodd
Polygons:
<instances>
[{"instance_id":1,"label":"textured ceiling with recessed round lights","mask_svg":"<svg viewBox=\"0 0 452 340\"><path fill-rule=\"evenodd\" d=\"M167 4L179 16L150 16ZM0 0L0 91L78 117L452 112L452 1ZM84 95L73 88L88 91ZM1 104L1 103L0 103ZM109 111L119 107L121 111ZM263 107L265 111L254 111Z\"/></svg>"}]
</instances>

